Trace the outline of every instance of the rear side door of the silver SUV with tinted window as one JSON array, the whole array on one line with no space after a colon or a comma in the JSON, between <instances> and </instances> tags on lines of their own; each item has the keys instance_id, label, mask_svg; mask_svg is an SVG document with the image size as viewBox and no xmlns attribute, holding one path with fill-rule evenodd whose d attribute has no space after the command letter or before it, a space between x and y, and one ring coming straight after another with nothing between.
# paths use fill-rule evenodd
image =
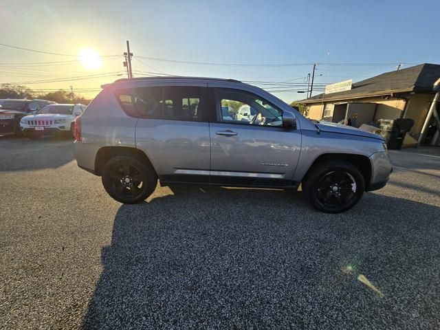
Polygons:
<instances>
[{"instance_id":1,"label":"rear side door of the silver SUV with tinted window","mask_svg":"<svg viewBox=\"0 0 440 330\"><path fill-rule=\"evenodd\" d=\"M162 183L208 183L210 137L206 84L145 87L135 91L141 113L135 144L151 159Z\"/></svg>"}]
</instances>

